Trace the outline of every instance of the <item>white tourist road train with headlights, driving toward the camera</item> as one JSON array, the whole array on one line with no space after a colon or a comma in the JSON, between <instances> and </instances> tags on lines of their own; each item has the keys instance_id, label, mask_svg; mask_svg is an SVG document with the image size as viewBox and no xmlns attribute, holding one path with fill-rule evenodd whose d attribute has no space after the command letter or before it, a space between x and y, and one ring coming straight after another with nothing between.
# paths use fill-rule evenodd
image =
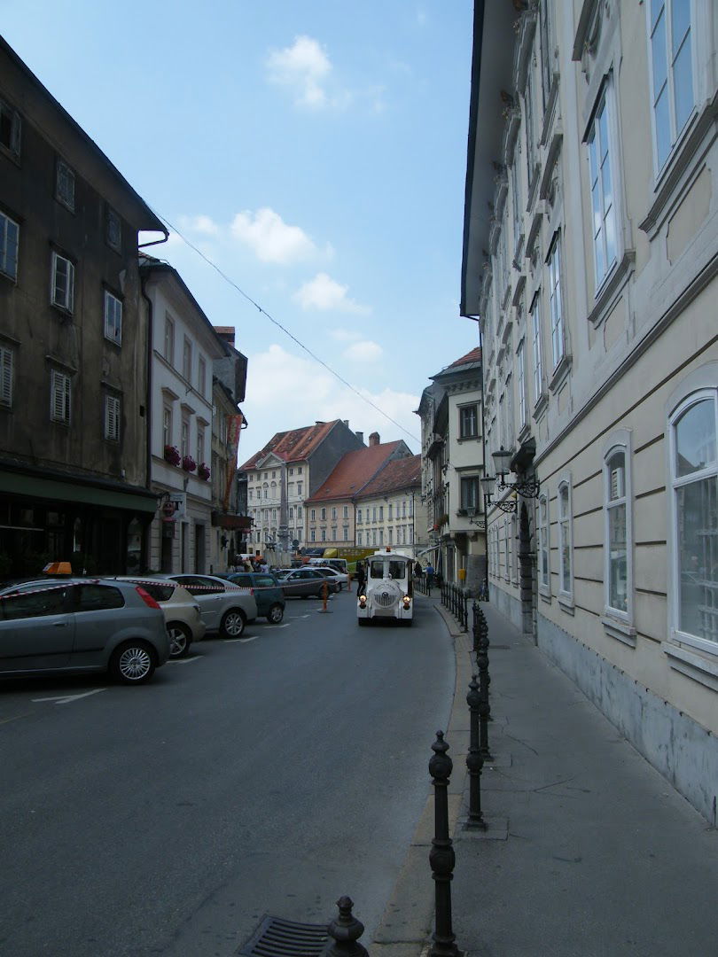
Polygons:
<instances>
[{"instance_id":1,"label":"white tourist road train with headlights, driving toward the camera","mask_svg":"<svg viewBox=\"0 0 718 957\"><path fill-rule=\"evenodd\" d=\"M387 547L370 555L365 566L367 579L356 602L359 624L378 618L410 626L414 618L412 559Z\"/></svg>"}]
</instances>

